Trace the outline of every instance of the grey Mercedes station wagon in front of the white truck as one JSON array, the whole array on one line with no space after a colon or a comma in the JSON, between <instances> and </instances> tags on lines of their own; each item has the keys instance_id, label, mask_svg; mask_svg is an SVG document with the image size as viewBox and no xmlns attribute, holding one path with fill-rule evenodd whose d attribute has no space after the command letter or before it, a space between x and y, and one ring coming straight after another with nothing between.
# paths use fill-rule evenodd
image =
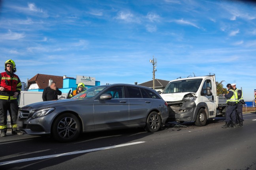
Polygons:
<instances>
[{"instance_id":1,"label":"grey Mercedes station wagon in front of the white truck","mask_svg":"<svg viewBox=\"0 0 256 170\"><path fill-rule=\"evenodd\" d=\"M167 103L151 88L110 84L88 88L70 99L43 101L19 109L19 129L71 142L81 132L144 127L156 132L168 118Z\"/></svg>"}]
</instances>

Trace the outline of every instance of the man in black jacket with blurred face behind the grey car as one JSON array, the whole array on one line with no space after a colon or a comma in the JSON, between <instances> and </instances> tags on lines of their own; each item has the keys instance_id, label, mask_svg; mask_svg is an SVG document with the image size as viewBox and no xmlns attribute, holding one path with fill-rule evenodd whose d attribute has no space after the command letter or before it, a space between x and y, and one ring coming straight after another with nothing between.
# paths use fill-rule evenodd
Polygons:
<instances>
[{"instance_id":1,"label":"man in black jacket with blurred face behind the grey car","mask_svg":"<svg viewBox=\"0 0 256 170\"><path fill-rule=\"evenodd\" d=\"M58 88L55 85L55 82L51 82L50 86L45 88L43 90L43 101L49 101L49 100L57 100L58 95L61 95L62 92L58 90Z\"/></svg>"}]
</instances>

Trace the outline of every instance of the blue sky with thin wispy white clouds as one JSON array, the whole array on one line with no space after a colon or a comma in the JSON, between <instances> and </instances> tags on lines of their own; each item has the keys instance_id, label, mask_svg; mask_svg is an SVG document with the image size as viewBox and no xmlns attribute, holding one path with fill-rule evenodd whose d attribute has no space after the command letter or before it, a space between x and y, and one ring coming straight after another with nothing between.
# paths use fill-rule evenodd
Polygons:
<instances>
[{"instance_id":1,"label":"blue sky with thin wispy white clouds","mask_svg":"<svg viewBox=\"0 0 256 170\"><path fill-rule=\"evenodd\" d=\"M0 63L34 75L138 84L215 73L256 89L256 4L232 0L0 0Z\"/></svg>"}]
</instances>

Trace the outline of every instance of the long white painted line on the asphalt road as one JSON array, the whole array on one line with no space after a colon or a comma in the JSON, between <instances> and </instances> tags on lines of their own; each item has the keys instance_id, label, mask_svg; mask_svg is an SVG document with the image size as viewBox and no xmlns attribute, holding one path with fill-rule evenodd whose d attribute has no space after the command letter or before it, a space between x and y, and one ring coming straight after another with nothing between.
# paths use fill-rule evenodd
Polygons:
<instances>
[{"instance_id":1,"label":"long white painted line on the asphalt road","mask_svg":"<svg viewBox=\"0 0 256 170\"><path fill-rule=\"evenodd\" d=\"M107 146L107 147L103 147L103 148L95 148L95 149L88 149L88 150L83 150L83 151L75 151L75 152L61 153L61 154L55 154L55 155L47 155L47 156L42 156L42 157L19 159L19 160L14 160L14 161L6 161L6 162L0 163L0 166L1 165L6 165L6 164L14 164L14 163L27 162L27 161L34 161L34 160L39 160L39 159L47 159L47 158L61 157L61 156L66 156L66 155L74 155L74 154L79 154L79 153L93 152L93 151L99 151L99 150L104 150L104 149L119 148L119 147L123 147L123 146L141 144L141 143L144 143L144 142L145 141L132 142L132 143L128 143L128 144L121 144L121 145L115 145L115 146Z\"/></svg>"}]
</instances>

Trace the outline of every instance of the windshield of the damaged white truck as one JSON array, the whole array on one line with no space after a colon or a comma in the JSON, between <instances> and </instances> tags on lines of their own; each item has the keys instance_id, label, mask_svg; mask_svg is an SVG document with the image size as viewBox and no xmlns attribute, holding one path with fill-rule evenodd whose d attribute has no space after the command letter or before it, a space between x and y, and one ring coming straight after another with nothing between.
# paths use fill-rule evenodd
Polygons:
<instances>
[{"instance_id":1,"label":"windshield of the damaged white truck","mask_svg":"<svg viewBox=\"0 0 256 170\"><path fill-rule=\"evenodd\" d=\"M164 89L163 93L181 93L181 92L194 92L198 91L198 88L202 82L202 78L188 79L188 80L177 80L169 82Z\"/></svg>"}]
</instances>

